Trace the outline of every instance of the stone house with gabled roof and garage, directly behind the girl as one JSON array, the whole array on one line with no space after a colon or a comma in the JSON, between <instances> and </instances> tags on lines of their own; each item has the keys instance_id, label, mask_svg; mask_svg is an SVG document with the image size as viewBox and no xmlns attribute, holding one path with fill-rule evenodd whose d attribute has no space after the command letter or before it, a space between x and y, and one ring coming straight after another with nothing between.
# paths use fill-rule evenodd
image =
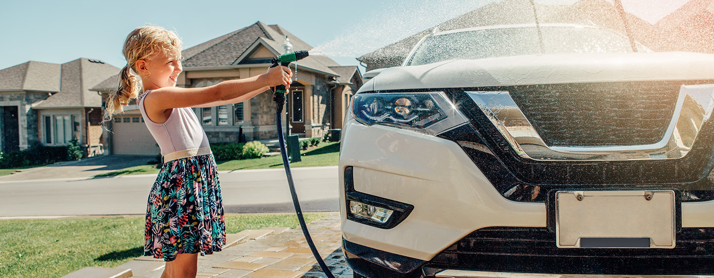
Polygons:
<instances>
[{"instance_id":1,"label":"stone house with gabled roof and garage, directly behind the girl","mask_svg":"<svg viewBox=\"0 0 714 278\"><path fill-rule=\"evenodd\" d=\"M278 25L261 21L243 29L213 38L182 51L183 73L177 86L197 88L221 81L248 78L265 73L271 59L289 51L310 50ZM297 67L295 73L294 68ZM323 136L342 128L351 96L362 86L357 66L340 66L326 56L308 56L293 63L293 80L286 96L283 127L286 134L304 137ZM116 90L117 76L98 83L93 91ZM277 138L273 93L266 91L250 101L213 108L194 108L211 143L236 143L241 140ZM124 108L105 132L111 154L158 154L159 147L141 119L136 103ZM243 139L244 138L244 139Z\"/></svg>"}]
</instances>

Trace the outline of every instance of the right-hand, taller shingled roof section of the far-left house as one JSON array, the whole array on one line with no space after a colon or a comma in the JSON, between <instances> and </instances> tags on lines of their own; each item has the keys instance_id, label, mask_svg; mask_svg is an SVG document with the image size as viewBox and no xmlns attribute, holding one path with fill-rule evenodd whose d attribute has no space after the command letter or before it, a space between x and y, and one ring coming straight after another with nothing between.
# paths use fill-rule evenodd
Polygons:
<instances>
[{"instance_id":1,"label":"right-hand, taller shingled roof section of the far-left house","mask_svg":"<svg viewBox=\"0 0 714 278\"><path fill-rule=\"evenodd\" d=\"M119 72L115 66L87 58L56 66L61 67L61 75L56 78L57 83L61 84L59 90L44 101L35 103L32 108L101 107L101 96L89 88Z\"/></svg>"}]
</instances>

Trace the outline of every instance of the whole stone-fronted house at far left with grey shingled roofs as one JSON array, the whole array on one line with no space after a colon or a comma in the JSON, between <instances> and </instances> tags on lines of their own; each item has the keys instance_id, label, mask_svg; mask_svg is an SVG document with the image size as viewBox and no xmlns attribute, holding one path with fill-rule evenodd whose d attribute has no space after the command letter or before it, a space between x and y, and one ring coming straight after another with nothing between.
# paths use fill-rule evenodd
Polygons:
<instances>
[{"instance_id":1,"label":"whole stone-fronted house at far left with grey shingled roofs","mask_svg":"<svg viewBox=\"0 0 714 278\"><path fill-rule=\"evenodd\" d=\"M101 96L91 86L119 72L102 61L29 61L0 70L0 151L34 143L68 145L77 138L88 156L104 153Z\"/></svg>"}]
</instances>

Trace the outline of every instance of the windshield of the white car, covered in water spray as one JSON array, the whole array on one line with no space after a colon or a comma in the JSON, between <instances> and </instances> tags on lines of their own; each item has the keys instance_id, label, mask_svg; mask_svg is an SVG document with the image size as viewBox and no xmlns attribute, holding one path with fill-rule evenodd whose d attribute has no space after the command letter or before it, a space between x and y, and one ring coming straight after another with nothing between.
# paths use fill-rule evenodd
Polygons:
<instances>
[{"instance_id":1,"label":"windshield of the white car, covered in water spray","mask_svg":"<svg viewBox=\"0 0 714 278\"><path fill-rule=\"evenodd\" d=\"M612 31L584 26L541 26L543 53L632 52L630 41ZM535 26L462 31L426 38L408 66L540 54ZM639 47L639 46L638 46Z\"/></svg>"}]
</instances>

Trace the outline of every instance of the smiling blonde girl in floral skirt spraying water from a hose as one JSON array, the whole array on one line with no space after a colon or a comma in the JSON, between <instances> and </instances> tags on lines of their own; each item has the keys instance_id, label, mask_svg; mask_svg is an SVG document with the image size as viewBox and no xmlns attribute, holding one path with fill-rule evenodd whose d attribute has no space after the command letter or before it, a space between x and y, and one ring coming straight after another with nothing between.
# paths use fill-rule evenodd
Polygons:
<instances>
[{"instance_id":1,"label":"smiling blonde girl in floral skirt spraying water from a hose","mask_svg":"<svg viewBox=\"0 0 714 278\"><path fill-rule=\"evenodd\" d=\"M126 37L123 51L127 65L119 73L119 89L106 102L105 118L123 112L122 105L137 98L146 127L164 155L146 208L144 254L164 258L162 278L196 277L198 253L221 251L226 227L216 162L191 108L247 101L270 86L289 88L291 71L281 66L214 86L178 88L181 40L174 32L139 27Z\"/></svg>"}]
</instances>

